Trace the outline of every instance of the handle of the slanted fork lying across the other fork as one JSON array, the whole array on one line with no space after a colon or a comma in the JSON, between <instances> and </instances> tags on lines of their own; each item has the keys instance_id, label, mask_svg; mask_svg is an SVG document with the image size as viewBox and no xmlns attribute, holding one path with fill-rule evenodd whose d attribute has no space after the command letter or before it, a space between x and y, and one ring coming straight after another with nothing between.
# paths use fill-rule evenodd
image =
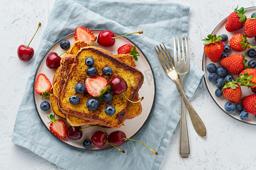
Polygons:
<instances>
[{"instance_id":1,"label":"handle of the slanted fork lying across the other fork","mask_svg":"<svg viewBox=\"0 0 256 170\"><path fill-rule=\"evenodd\" d=\"M187 105L188 113L191 118L192 124L196 130L196 133L199 134L201 137L205 138L207 131L205 129L203 121L198 116L198 114L196 113L196 111L192 107L192 105L190 104L188 97L185 95L185 92L180 84L179 78L175 78L174 82L175 82L177 88L180 90L180 94L183 97L185 104Z\"/></svg>"}]
</instances>

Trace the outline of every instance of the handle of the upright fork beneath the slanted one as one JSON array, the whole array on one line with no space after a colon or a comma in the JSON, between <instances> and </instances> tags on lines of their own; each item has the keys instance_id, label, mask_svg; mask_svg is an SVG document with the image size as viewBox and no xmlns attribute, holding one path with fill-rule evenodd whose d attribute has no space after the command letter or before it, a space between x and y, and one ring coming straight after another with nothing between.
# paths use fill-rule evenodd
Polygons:
<instances>
[{"instance_id":1,"label":"handle of the upright fork beneath the slanted one","mask_svg":"<svg viewBox=\"0 0 256 170\"><path fill-rule=\"evenodd\" d=\"M180 83L184 89L185 75L180 75ZM186 106L183 97L180 97L180 142L179 142L179 154L181 158L188 158L190 155L188 128L186 119Z\"/></svg>"}]
</instances>

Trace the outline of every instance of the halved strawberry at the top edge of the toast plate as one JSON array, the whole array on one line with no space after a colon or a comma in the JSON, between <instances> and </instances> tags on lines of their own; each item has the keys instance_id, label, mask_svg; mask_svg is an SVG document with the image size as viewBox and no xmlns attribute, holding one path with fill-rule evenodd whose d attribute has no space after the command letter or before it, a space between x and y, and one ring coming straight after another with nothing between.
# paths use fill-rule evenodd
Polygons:
<instances>
[{"instance_id":1,"label":"halved strawberry at the top edge of the toast plate","mask_svg":"<svg viewBox=\"0 0 256 170\"><path fill-rule=\"evenodd\" d=\"M93 35L92 31L85 27L77 27L75 29L75 40L85 41L93 43L96 41L96 37Z\"/></svg>"}]
</instances>

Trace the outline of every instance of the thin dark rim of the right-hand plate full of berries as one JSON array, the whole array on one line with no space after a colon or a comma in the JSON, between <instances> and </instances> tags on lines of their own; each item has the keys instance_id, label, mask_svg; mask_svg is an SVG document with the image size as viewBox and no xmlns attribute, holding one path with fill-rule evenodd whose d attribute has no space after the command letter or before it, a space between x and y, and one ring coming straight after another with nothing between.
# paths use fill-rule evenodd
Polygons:
<instances>
[{"instance_id":1,"label":"thin dark rim of the right-hand plate full of berries","mask_svg":"<svg viewBox=\"0 0 256 170\"><path fill-rule=\"evenodd\" d=\"M247 7L247 8L245 8L245 10L250 10L250 9L253 9L253 8L256 9L256 6ZM216 28L217 28L218 26L220 26L223 22L225 22L225 20L227 20L227 19L228 19L228 16L227 16L225 19L223 19L223 20L213 29L212 33L213 33L214 31L216 31ZM211 34L212 34L212 33L211 33ZM204 70L204 63L205 63L205 61L204 61L204 56L206 56L206 55L205 55L205 53L203 52L202 70L203 70L204 73L205 73L205 70ZM210 97L212 97L212 100L214 101L214 103L215 103L224 113L228 114L228 116L230 116L230 117L232 117L232 118L234 118L235 120L238 120L238 121L240 121L240 122L243 122L243 123L246 123L246 124L249 124L249 125L256 125L256 124L252 124L252 123L250 123L250 122L242 121L242 120L240 120L240 119L238 119L238 118L236 118L236 117L233 117L233 116L231 116L231 114L229 114L228 112L226 112L225 109L222 109L222 107L220 107L220 105L218 105L217 101L213 98L212 94L210 93L209 87L207 86L207 82L206 82L206 77L205 77L205 76L204 76L204 83L205 83L205 86L207 87L208 94L210 95Z\"/></svg>"}]
</instances>

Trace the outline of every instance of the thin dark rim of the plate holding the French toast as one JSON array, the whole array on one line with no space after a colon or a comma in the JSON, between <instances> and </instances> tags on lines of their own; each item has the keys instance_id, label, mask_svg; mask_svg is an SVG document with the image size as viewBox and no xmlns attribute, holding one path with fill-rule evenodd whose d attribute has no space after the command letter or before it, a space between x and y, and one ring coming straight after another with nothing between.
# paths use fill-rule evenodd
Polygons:
<instances>
[{"instance_id":1,"label":"thin dark rim of the plate holding the French toast","mask_svg":"<svg viewBox=\"0 0 256 170\"><path fill-rule=\"evenodd\" d=\"M89 29L89 28L88 28ZM90 29L90 31L105 31L107 29L97 29L97 28L92 28ZM113 32L113 31L112 31ZM118 35L120 36L119 33L116 33L116 32L113 32L115 35ZM36 81L36 75L38 74L38 70L39 70L39 67L40 65L42 64L44 58L46 57L47 53L53 48L53 46L55 46L56 44L58 44L61 40L65 39L66 37L68 36L71 36L71 35L74 35L75 32L73 33L69 33L68 35L62 37L61 39L57 40L56 42L53 43L52 46L49 47L49 49L46 51L46 53L44 53L43 57L41 58L40 62L38 63L38 66L36 67L36 71L35 71L35 76L34 76L34 81L33 81L33 100L34 100L34 105L35 105L35 109L36 109L36 112L38 114L38 117L40 118L41 122L43 123L44 127L49 131L49 133L51 133L53 135L53 137L55 137L56 139L58 139L59 141L61 141L62 143L64 143L65 145L68 145L68 146L71 146L73 148L76 148L76 149L79 149L79 150L86 150L86 151L104 151L104 150L109 150L111 148L114 148L113 146L110 146L108 148L100 148L100 149L96 149L96 150L90 150L88 148L80 148L80 147L76 147L76 146L73 146L67 142L64 142L62 139L56 137L56 135L54 135L50 130L49 128L46 126L46 124L44 124L44 121L42 120L40 114L39 114L39 111L38 111L38 108L36 107L36 100L35 100L35 81ZM152 114L152 111L154 109L154 106L155 106L155 96L156 96L156 82L155 82L155 74L154 74L154 70L152 69L152 66L151 66L151 63L148 61L148 58L147 56L143 53L143 51L141 50L141 48L139 48L139 46L137 46L137 44L135 44L133 41L131 41L130 39L128 39L127 37L123 37L125 38L126 40L130 41L131 43L133 43L137 49L139 49L139 51L143 54L144 58L146 59L148 65L150 66L150 70L152 71L152 76L153 76L153 80L154 80L154 97L153 97L153 103L152 103L152 107L150 109L150 112L148 113L148 116L146 118L146 120L144 121L143 125L141 126L141 128L139 128L136 133L134 133L130 138L133 138L135 135L137 135L139 133L139 131L142 130L142 128L146 125L146 123L148 122L149 118L151 117L151 114ZM130 140L126 140L124 143L126 143L127 141L130 141Z\"/></svg>"}]
</instances>

